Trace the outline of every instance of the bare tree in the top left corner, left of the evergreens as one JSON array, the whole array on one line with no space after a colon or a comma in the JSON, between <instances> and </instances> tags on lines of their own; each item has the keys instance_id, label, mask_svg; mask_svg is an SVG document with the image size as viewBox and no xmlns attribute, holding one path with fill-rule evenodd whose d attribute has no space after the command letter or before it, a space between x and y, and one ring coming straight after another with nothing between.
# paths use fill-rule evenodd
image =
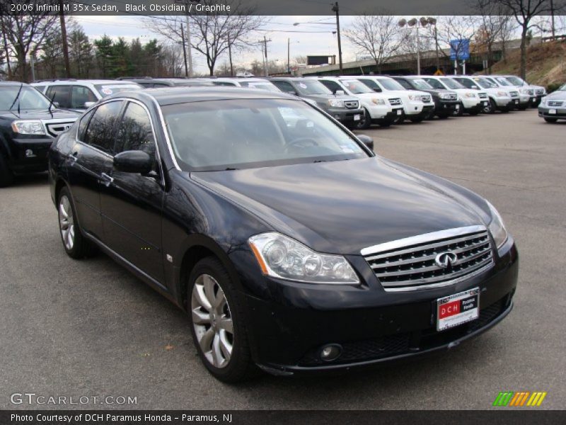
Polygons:
<instances>
[{"instance_id":1,"label":"bare tree in the top left corner, left of the evergreens","mask_svg":"<svg viewBox=\"0 0 566 425\"><path fill-rule=\"evenodd\" d=\"M33 0L22 0L21 4L34 4ZM57 0L47 0L54 5ZM11 11L8 2L0 3L1 27L7 42L18 60L18 73L22 81L29 81L28 55L35 55L42 43L49 38L57 22L57 16L45 13L17 14Z\"/></svg>"}]
</instances>

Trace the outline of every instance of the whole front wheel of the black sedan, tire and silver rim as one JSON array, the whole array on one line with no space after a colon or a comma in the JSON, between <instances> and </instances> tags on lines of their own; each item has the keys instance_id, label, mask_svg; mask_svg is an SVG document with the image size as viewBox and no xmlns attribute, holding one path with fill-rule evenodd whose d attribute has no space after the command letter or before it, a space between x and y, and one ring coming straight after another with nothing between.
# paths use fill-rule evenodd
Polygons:
<instances>
[{"instance_id":1,"label":"whole front wheel of the black sedan, tire and silver rim","mask_svg":"<svg viewBox=\"0 0 566 425\"><path fill-rule=\"evenodd\" d=\"M228 271L215 257L192 269L187 283L187 310L192 340L214 378L239 382L258 371L250 356L246 319Z\"/></svg>"}]
</instances>

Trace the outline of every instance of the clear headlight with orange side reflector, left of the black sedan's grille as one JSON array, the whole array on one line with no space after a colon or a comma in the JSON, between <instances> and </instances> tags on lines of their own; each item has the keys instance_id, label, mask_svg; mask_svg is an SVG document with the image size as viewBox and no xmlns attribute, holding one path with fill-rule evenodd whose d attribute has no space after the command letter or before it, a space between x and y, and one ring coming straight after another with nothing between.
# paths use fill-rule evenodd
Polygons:
<instances>
[{"instance_id":1,"label":"clear headlight with orange side reflector, left of the black sedan's grille","mask_svg":"<svg viewBox=\"0 0 566 425\"><path fill-rule=\"evenodd\" d=\"M343 256L319 254L282 234L257 234L248 243L267 276L308 283L359 283Z\"/></svg>"}]
</instances>

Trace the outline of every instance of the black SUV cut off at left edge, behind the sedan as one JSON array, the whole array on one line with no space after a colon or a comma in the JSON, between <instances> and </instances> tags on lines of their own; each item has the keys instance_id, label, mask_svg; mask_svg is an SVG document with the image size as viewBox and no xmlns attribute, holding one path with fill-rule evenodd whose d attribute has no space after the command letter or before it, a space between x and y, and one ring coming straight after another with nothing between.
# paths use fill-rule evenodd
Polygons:
<instances>
[{"instance_id":1,"label":"black SUV cut off at left edge, behind the sedan","mask_svg":"<svg viewBox=\"0 0 566 425\"><path fill-rule=\"evenodd\" d=\"M0 187L47 170L47 149L78 113L61 111L24 83L0 82Z\"/></svg>"}]
</instances>

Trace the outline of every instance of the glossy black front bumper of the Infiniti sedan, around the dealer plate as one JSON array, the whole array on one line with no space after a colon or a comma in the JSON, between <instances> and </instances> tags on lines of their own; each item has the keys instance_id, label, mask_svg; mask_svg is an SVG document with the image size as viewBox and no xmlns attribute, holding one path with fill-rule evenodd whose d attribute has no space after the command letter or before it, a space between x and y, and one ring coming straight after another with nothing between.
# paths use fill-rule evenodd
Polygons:
<instances>
[{"instance_id":1,"label":"glossy black front bumper of the Infiniti sedan, around the dealer plate","mask_svg":"<svg viewBox=\"0 0 566 425\"><path fill-rule=\"evenodd\" d=\"M277 288L271 300L246 295L251 339L257 341L254 360L271 373L316 373L456 346L490 329L512 309L518 255L512 239L502 249L490 271L445 288L387 293L379 283L364 290L270 280L270 287ZM475 287L480 288L479 319L437 331L436 300ZM320 360L326 344L340 344L342 355Z\"/></svg>"}]
</instances>

